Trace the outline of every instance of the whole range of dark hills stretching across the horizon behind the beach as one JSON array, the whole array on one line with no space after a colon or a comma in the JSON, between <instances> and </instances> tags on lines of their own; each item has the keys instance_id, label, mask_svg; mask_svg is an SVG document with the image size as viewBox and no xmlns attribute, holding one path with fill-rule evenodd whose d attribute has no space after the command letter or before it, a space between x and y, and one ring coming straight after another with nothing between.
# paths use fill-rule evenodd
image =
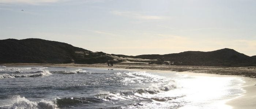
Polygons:
<instances>
[{"instance_id":1,"label":"whole range of dark hills stretching across the horizon behind the beach","mask_svg":"<svg viewBox=\"0 0 256 109\"><path fill-rule=\"evenodd\" d=\"M246 56L228 48L211 52L126 56L92 52L67 43L42 39L0 40L0 63L96 64L108 61L120 64L256 66L256 56Z\"/></svg>"}]
</instances>

